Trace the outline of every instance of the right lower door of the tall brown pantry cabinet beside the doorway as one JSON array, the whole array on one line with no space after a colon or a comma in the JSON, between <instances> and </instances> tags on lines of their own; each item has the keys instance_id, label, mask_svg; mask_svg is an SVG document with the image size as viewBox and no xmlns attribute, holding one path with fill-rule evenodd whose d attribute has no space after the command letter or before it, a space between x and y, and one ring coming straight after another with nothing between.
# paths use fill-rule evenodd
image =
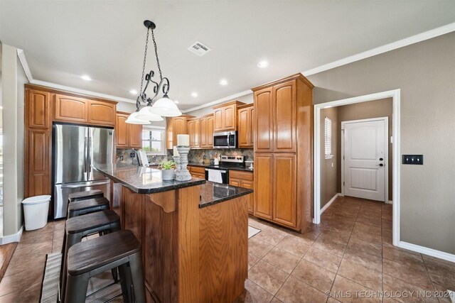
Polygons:
<instances>
[{"instance_id":1,"label":"right lower door of the tall brown pantry cabinet beside the doorway","mask_svg":"<svg viewBox=\"0 0 455 303\"><path fill-rule=\"evenodd\" d=\"M274 155L273 221L296 228L296 155Z\"/></svg>"}]
</instances>

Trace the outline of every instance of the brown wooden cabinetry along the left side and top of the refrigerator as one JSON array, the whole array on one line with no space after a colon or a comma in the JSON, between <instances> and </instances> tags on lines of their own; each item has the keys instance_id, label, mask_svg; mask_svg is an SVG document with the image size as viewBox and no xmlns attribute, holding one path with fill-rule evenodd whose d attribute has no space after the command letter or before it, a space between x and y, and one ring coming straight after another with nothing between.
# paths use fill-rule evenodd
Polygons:
<instances>
[{"instance_id":1,"label":"brown wooden cabinetry along the left side and top of the refrigerator","mask_svg":"<svg viewBox=\"0 0 455 303\"><path fill-rule=\"evenodd\" d=\"M62 92L33 84L25 86L25 192L51 194L53 121L114 126L117 102ZM49 208L49 216L52 214Z\"/></svg>"}]
</instances>

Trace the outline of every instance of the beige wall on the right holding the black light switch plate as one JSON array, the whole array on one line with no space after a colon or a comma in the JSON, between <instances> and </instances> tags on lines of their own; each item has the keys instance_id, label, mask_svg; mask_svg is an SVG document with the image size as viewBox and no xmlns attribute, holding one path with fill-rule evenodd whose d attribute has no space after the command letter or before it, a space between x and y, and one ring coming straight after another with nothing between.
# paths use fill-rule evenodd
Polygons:
<instances>
[{"instance_id":1,"label":"beige wall on the right holding the black light switch plate","mask_svg":"<svg viewBox=\"0 0 455 303\"><path fill-rule=\"evenodd\" d=\"M455 33L309 76L314 104L401 89L400 239L455 254Z\"/></svg>"}]
</instances>

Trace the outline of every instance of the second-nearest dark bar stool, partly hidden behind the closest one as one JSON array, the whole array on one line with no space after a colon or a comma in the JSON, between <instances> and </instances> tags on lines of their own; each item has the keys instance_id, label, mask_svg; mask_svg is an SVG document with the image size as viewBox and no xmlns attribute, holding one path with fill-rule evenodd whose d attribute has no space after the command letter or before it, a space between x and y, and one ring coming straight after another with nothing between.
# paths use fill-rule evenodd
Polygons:
<instances>
[{"instance_id":1,"label":"second-nearest dark bar stool, partly hidden behind the closest one","mask_svg":"<svg viewBox=\"0 0 455 303\"><path fill-rule=\"evenodd\" d=\"M61 290L65 290L66 282L66 258L68 250L75 243L80 243L82 238L92 233L113 233L120 230L120 217L112 210L97 211L91 214L75 216L66 221L65 226L65 247L63 248L62 267L60 275ZM112 277L114 282L117 281L117 269L112 269ZM62 300L65 297L63 292L60 292Z\"/></svg>"}]
</instances>

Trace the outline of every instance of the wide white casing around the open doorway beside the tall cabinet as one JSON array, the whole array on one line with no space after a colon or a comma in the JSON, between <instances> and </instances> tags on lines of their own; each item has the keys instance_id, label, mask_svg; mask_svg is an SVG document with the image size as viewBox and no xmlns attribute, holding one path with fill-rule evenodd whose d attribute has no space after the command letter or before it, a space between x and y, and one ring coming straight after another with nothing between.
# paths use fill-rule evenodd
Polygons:
<instances>
[{"instance_id":1,"label":"wide white casing around the open doorway beside the tall cabinet","mask_svg":"<svg viewBox=\"0 0 455 303\"><path fill-rule=\"evenodd\" d=\"M314 105L314 223L321 222L321 109L392 98L392 243L400 243L400 89Z\"/></svg>"}]
</instances>

